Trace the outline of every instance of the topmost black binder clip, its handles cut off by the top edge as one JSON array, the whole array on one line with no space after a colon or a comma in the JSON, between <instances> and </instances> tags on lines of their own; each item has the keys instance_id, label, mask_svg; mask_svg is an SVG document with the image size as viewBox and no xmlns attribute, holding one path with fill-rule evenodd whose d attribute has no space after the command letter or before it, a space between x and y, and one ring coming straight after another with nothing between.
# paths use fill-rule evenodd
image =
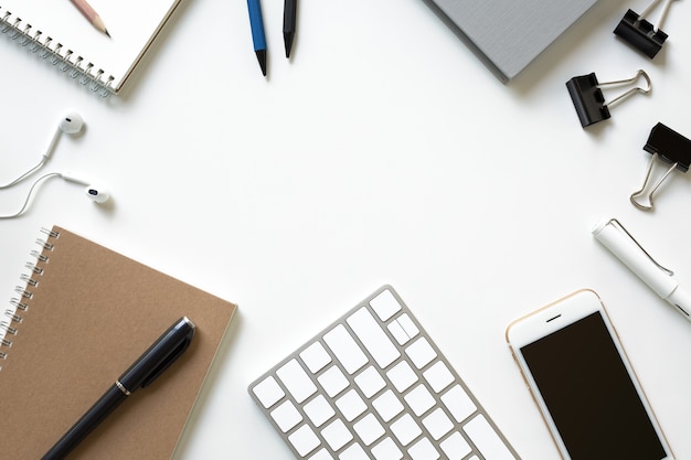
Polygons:
<instances>
[{"instance_id":1,"label":"topmost black binder clip, its handles cut off by the top edge","mask_svg":"<svg viewBox=\"0 0 691 460\"><path fill-rule=\"evenodd\" d=\"M615 35L620 36L624 41L628 42L636 50L644 53L646 56L653 58L658 52L662 49L662 44L667 40L667 34L660 30L665 18L669 11L669 7L674 0L666 0L665 8L658 26L653 26L646 20L648 13L658 6L662 0L655 0L650 7L648 7L642 14L638 14L634 10L628 10L624 18L614 30Z\"/></svg>"}]
</instances>

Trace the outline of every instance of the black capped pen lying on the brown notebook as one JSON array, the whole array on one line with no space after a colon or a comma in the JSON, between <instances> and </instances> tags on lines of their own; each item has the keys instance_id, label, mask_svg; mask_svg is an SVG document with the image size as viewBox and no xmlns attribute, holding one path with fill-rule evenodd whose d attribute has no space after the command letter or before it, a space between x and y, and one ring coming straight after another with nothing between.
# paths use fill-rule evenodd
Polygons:
<instances>
[{"instance_id":1,"label":"black capped pen lying on the brown notebook","mask_svg":"<svg viewBox=\"0 0 691 460\"><path fill-rule=\"evenodd\" d=\"M194 324L184 317L176 321L115 384L43 456L42 460L64 459L98 424L139 388L146 388L190 346Z\"/></svg>"}]
</instances>

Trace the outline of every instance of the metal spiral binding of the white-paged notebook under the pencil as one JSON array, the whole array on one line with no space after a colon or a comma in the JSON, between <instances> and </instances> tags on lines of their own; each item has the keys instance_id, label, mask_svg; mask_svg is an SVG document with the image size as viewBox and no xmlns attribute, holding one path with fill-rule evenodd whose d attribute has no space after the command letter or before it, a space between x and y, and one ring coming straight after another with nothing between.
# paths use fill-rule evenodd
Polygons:
<instances>
[{"instance_id":1,"label":"metal spiral binding of the white-paged notebook under the pencil","mask_svg":"<svg viewBox=\"0 0 691 460\"><path fill-rule=\"evenodd\" d=\"M83 56L75 54L62 43L45 35L42 31L12 15L7 9L0 7L0 32L18 42L41 58L49 61L55 67L88 86L91 90L100 97L108 97L113 92L113 75L106 75L105 71L97 68ZM67 72L70 71L70 72Z\"/></svg>"}]
</instances>

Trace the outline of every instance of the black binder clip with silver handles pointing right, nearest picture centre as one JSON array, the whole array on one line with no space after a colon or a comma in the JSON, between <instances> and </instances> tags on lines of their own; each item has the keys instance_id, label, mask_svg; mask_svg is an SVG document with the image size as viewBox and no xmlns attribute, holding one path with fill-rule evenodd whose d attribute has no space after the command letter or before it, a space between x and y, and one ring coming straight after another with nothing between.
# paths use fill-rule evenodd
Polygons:
<instances>
[{"instance_id":1,"label":"black binder clip with silver handles pointing right, nearest picture centre","mask_svg":"<svg viewBox=\"0 0 691 460\"><path fill-rule=\"evenodd\" d=\"M634 87L621 94L620 96L612 99L609 103L605 101L602 88L604 86L627 85L635 83L640 76L642 76L647 84L647 88ZM573 105L578 114L581 126L594 125L598 121L603 121L612 117L609 114L609 107L620 103L635 93L649 93L652 88L650 77L644 71L638 71L632 78L620 79L617 82L598 83L595 73L588 75L581 75L571 78L566 82L566 88L573 100Z\"/></svg>"}]
</instances>

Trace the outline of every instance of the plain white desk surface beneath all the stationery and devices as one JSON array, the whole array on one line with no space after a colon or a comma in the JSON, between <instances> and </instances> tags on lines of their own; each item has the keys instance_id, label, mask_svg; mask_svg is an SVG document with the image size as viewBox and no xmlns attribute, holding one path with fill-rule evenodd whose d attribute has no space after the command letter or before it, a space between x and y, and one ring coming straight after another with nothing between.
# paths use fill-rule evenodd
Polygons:
<instances>
[{"instance_id":1,"label":"plain white desk surface beneath all the stationery and devices","mask_svg":"<svg viewBox=\"0 0 691 460\"><path fill-rule=\"evenodd\" d=\"M25 215L0 222L0 297L12 296L38 229L60 224L237 302L174 458L287 460L248 383L391 284L522 458L540 460L559 454L504 329L589 287L677 458L689 459L691 324L589 233L618 217L691 285L688 175L668 179L653 212L629 202L652 126L691 137L691 6L672 6L653 62L612 33L647 4L599 2L509 85L419 0L300 0L290 61L283 2L265 1L268 78L245 2L189 0L107 100L2 36L0 181L33 165L73 108L87 129L64 136L44 171L99 178L113 202L44 183ZM638 68L651 94L582 129L565 82ZM25 192L3 191L0 213Z\"/></svg>"}]
</instances>

